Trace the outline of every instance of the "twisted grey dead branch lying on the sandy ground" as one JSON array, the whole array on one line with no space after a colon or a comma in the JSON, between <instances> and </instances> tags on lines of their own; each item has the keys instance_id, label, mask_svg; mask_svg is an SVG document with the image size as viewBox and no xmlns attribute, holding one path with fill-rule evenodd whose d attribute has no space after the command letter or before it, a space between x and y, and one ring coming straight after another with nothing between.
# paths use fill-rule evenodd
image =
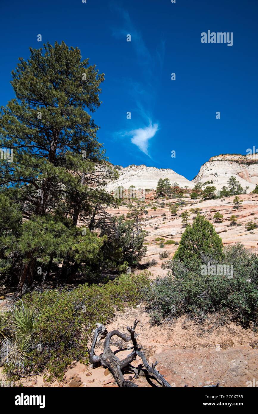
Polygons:
<instances>
[{"instance_id":1,"label":"twisted grey dead branch lying on the sandy ground","mask_svg":"<svg viewBox=\"0 0 258 414\"><path fill-rule=\"evenodd\" d=\"M146 356L143 354L143 352L141 352L140 348L138 347L136 337L139 334L135 333L135 328L138 322L138 320L135 320L133 326L127 326L127 330L130 334L130 336L128 337L124 335L122 332L119 332L118 330L114 330L108 333L105 326L99 324L94 332L93 342L90 350L90 363L100 363L101 365L108 368L109 371L114 375L117 385L119 387L137 387L137 385L132 381L124 379L123 373L129 372L134 373L136 378L138 378L139 375L148 375L150 378L155 378L155 380L160 385L162 385L162 387L171 388L171 385L155 369L158 362L156 361L155 364L150 366L148 364ZM100 356L95 355L95 346L99 335L100 339L105 338L103 353ZM123 360L117 358L117 356L115 356L114 352L112 352L110 348L110 340L115 335L123 339L124 342L132 341L133 343L133 351ZM136 356L139 356L141 358L145 369L142 366L136 368L131 365L131 362L134 361L134 359L136 359Z\"/></svg>"}]
</instances>

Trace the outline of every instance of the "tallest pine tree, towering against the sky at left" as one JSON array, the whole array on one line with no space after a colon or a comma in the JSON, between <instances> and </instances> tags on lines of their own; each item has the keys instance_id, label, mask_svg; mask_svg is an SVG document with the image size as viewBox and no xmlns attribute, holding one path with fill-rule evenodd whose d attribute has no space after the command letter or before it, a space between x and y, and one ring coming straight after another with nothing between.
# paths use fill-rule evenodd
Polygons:
<instances>
[{"instance_id":1,"label":"tallest pine tree, towering against the sky at left","mask_svg":"<svg viewBox=\"0 0 258 414\"><path fill-rule=\"evenodd\" d=\"M64 258L67 254L67 268L75 260L71 248L76 250L81 237L76 231L79 217L93 229L101 203L114 200L104 187L116 173L105 159L96 136L98 126L90 115L100 106L104 75L89 66L88 59L81 60L78 48L64 42L47 43L44 53L32 48L30 52L28 61L20 58L12 71L16 98L2 107L0 116L0 147L14 152L12 162L0 165L1 192L19 204L23 221L31 220L26 226L34 229L35 238L40 229L43 238L49 237L44 224L49 214L55 215L55 226L63 224L70 231L70 241L74 235L67 253L62 251ZM37 241L25 243L21 238L22 227L16 234L19 249L15 243L9 248L11 272L19 278L16 296L32 285L39 255L34 248ZM58 246L59 242L57 250ZM45 251L50 260L59 255L52 250Z\"/></svg>"}]
</instances>

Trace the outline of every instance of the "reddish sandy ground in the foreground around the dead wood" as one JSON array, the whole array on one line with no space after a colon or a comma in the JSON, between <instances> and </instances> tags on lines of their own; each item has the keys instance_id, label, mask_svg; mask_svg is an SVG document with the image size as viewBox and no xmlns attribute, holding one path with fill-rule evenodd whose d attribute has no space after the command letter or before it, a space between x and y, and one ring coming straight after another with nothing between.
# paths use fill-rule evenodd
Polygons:
<instances>
[{"instance_id":1,"label":"reddish sandy ground in the foreground around the dead wood","mask_svg":"<svg viewBox=\"0 0 258 414\"><path fill-rule=\"evenodd\" d=\"M126 333L126 326L139 320L136 332L149 363L158 361L157 369L172 387L201 387L220 384L222 387L246 387L247 381L258 378L258 338L253 330L244 330L234 323L212 329L214 320L199 326L185 317L170 325L150 326L149 316L141 304L136 309L117 312L107 329ZM104 340L96 347L96 354L103 351ZM113 337L111 349L123 359L131 352L131 342L125 344ZM133 362L139 366L141 360ZM1 375L0 375L1 376ZM130 375L126 374L125 378ZM130 378L131 379L131 378ZM133 378L139 387L157 387L154 380ZM117 387L108 369L74 363L62 381L48 381L41 375L22 380L25 387Z\"/></svg>"}]
</instances>

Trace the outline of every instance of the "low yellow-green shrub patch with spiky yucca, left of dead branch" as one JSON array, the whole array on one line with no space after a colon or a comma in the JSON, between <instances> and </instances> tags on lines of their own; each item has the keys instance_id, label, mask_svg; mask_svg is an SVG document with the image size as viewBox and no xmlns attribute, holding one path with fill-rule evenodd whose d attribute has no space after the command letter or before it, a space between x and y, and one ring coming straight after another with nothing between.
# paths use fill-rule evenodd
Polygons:
<instances>
[{"instance_id":1,"label":"low yellow-green shrub patch with spiky yucca, left of dead branch","mask_svg":"<svg viewBox=\"0 0 258 414\"><path fill-rule=\"evenodd\" d=\"M62 377L72 361L87 363L87 342L96 323L110 321L115 308L122 310L125 303L138 304L150 285L149 275L145 271L104 286L85 284L72 291L53 289L25 295L14 311L7 312L15 339L1 348L4 356L12 352L12 363L2 356L7 373L19 374L21 367L14 366L14 357L19 357L27 373L48 370L50 378ZM2 326L6 329L5 323Z\"/></svg>"}]
</instances>

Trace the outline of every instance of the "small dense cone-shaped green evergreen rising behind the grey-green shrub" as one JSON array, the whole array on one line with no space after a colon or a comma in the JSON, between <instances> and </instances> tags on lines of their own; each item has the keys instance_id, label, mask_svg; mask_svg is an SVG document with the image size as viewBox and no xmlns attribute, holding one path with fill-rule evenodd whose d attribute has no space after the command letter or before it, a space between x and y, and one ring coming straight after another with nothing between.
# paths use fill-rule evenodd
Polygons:
<instances>
[{"instance_id":1,"label":"small dense cone-shaped green evergreen rising behind the grey-green shrub","mask_svg":"<svg viewBox=\"0 0 258 414\"><path fill-rule=\"evenodd\" d=\"M222 256L222 240L213 225L200 214L197 214L193 225L186 226L174 259L201 260L202 255L211 254L215 259Z\"/></svg>"}]
</instances>

